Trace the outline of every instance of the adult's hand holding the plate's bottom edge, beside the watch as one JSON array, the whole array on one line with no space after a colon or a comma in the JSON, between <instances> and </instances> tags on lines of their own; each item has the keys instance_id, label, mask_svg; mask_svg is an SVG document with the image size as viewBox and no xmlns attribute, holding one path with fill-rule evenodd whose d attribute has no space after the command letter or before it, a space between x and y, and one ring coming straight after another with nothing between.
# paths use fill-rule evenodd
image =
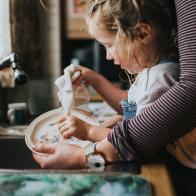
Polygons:
<instances>
[{"instance_id":1,"label":"adult's hand holding the plate's bottom edge, beside the watch","mask_svg":"<svg viewBox=\"0 0 196 196\"><path fill-rule=\"evenodd\" d=\"M78 146L66 144L39 144L33 148L39 155L33 153L34 160L41 168L48 169L80 169L85 168L86 156L84 150Z\"/></svg>"}]
</instances>

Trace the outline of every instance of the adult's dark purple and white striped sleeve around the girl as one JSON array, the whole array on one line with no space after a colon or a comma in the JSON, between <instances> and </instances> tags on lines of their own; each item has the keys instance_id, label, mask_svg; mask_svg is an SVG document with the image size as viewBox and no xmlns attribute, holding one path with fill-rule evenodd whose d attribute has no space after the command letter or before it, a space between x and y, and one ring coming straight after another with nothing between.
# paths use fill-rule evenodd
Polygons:
<instances>
[{"instance_id":1,"label":"adult's dark purple and white striped sleeve around the girl","mask_svg":"<svg viewBox=\"0 0 196 196\"><path fill-rule=\"evenodd\" d=\"M155 153L196 127L196 1L175 0L180 79L144 112L108 135L122 160Z\"/></svg>"}]
</instances>

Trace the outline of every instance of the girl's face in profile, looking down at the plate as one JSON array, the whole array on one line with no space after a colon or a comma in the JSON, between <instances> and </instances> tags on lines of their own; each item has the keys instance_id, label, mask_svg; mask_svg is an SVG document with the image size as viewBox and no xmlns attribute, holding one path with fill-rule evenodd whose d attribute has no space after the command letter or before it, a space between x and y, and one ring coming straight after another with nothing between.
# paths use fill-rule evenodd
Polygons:
<instances>
[{"instance_id":1,"label":"girl's face in profile, looking down at the plate","mask_svg":"<svg viewBox=\"0 0 196 196\"><path fill-rule=\"evenodd\" d=\"M97 27L92 21L89 22L90 34L106 48L107 60L113 60L114 64L120 65L122 69L130 74L138 73L144 68L141 62L142 52L139 42L129 42L128 46L123 45L123 41L116 40L116 34L111 34L104 28ZM130 52L128 55L127 47ZM142 68L143 67L143 68Z\"/></svg>"}]
</instances>

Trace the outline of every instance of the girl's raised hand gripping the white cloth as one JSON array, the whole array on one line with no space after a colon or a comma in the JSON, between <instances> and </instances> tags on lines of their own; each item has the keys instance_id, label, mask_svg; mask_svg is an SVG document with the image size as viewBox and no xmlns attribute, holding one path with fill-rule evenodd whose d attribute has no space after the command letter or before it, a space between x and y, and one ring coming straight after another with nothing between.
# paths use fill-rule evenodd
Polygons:
<instances>
[{"instance_id":1,"label":"girl's raised hand gripping the white cloth","mask_svg":"<svg viewBox=\"0 0 196 196\"><path fill-rule=\"evenodd\" d=\"M81 83L93 86L96 83L96 77L100 74L83 66L77 66L76 71L80 71L80 76L73 81L73 84L78 86Z\"/></svg>"}]
</instances>

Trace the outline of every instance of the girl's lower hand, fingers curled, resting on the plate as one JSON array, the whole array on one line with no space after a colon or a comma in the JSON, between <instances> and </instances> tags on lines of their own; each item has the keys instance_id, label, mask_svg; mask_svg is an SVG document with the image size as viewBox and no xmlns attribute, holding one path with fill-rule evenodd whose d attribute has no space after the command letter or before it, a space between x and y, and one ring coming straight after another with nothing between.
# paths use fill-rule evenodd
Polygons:
<instances>
[{"instance_id":1,"label":"girl's lower hand, fingers curled, resting on the plate","mask_svg":"<svg viewBox=\"0 0 196 196\"><path fill-rule=\"evenodd\" d=\"M59 130L64 139L75 136L78 139L87 140L91 127L92 125L74 116L64 116L59 120Z\"/></svg>"}]
</instances>

